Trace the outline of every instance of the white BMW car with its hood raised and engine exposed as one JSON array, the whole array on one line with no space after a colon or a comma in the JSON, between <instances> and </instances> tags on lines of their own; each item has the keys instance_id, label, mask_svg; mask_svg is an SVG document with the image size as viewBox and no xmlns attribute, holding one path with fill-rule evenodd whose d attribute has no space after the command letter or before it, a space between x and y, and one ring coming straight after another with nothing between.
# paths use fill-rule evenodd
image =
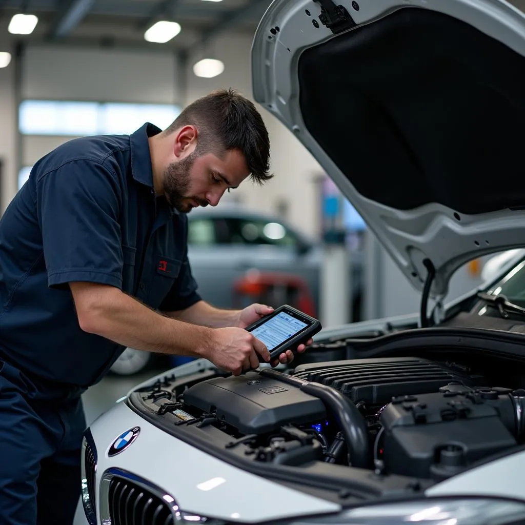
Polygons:
<instances>
[{"instance_id":1,"label":"white BMW car with its hood raised and engine exposed","mask_svg":"<svg viewBox=\"0 0 525 525\"><path fill-rule=\"evenodd\" d=\"M338 184L421 313L323 331L293 365L197 360L86 432L89 523L525 520L525 15L503 0L276 0L255 99ZM432 302L432 308L429 303Z\"/></svg>"}]
</instances>

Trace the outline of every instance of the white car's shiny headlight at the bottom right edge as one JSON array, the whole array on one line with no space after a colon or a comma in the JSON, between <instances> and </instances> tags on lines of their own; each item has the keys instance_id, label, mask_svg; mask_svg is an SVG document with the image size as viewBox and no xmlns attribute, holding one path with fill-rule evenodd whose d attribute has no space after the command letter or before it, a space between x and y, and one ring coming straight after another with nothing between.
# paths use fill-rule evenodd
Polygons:
<instances>
[{"instance_id":1,"label":"white car's shiny headlight at the bottom right edge","mask_svg":"<svg viewBox=\"0 0 525 525\"><path fill-rule=\"evenodd\" d=\"M491 498L425 499L345 510L335 516L296 519L287 525L518 525L525 503Z\"/></svg>"}]
</instances>

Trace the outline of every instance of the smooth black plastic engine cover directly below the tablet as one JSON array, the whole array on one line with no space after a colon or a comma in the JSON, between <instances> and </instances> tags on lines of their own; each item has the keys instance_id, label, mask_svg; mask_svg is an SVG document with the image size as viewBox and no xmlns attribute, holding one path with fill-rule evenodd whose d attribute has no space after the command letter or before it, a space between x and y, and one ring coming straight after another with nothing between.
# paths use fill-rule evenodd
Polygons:
<instances>
[{"instance_id":1,"label":"smooth black plastic engine cover directly below the tablet","mask_svg":"<svg viewBox=\"0 0 525 525\"><path fill-rule=\"evenodd\" d=\"M321 400L299 387L248 372L216 377L197 383L184 392L184 403L217 417L243 434L262 434L282 425L323 421Z\"/></svg>"}]
</instances>

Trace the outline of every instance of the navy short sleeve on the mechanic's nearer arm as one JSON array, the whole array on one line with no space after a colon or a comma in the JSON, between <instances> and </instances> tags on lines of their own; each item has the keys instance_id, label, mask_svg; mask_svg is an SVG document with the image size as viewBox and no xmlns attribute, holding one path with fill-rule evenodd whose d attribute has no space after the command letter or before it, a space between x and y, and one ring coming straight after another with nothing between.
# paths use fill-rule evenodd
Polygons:
<instances>
[{"instance_id":1,"label":"navy short sleeve on the mechanic's nearer arm","mask_svg":"<svg viewBox=\"0 0 525 525\"><path fill-rule=\"evenodd\" d=\"M36 183L48 285L72 281L122 286L117 176L96 161L77 160Z\"/></svg>"}]
</instances>

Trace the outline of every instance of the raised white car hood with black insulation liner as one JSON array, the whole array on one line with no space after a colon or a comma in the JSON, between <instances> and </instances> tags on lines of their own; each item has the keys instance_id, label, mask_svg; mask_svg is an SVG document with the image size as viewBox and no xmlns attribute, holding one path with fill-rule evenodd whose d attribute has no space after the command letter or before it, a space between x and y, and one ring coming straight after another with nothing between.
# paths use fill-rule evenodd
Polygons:
<instances>
[{"instance_id":1,"label":"raised white car hood with black insulation liner","mask_svg":"<svg viewBox=\"0 0 525 525\"><path fill-rule=\"evenodd\" d=\"M522 0L275 0L254 97L312 153L407 279L446 295L525 245Z\"/></svg>"}]
</instances>

